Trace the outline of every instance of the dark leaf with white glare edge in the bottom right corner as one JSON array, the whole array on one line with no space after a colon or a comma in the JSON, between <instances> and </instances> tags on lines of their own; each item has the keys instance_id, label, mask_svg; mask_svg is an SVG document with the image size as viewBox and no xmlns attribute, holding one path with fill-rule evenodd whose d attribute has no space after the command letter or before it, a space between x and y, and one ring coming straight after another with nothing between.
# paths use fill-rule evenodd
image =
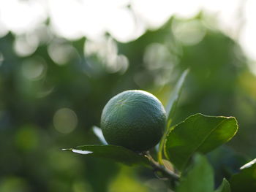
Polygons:
<instances>
[{"instance_id":1,"label":"dark leaf with white glare edge in the bottom right corner","mask_svg":"<svg viewBox=\"0 0 256 192\"><path fill-rule=\"evenodd\" d=\"M231 177L230 185L232 192L255 192L256 191L256 158L245 164L241 172Z\"/></svg>"}]
</instances>

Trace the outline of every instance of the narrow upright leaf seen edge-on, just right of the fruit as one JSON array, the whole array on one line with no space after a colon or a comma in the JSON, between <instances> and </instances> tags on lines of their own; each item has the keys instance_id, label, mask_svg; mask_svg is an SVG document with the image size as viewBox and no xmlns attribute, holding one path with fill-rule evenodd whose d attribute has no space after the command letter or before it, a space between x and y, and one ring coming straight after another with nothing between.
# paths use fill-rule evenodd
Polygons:
<instances>
[{"instance_id":1,"label":"narrow upright leaf seen edge-on, just right of the fruit","mask_svg":"<svg viewBox=\"0 0 256 192\"><path fill-rule=\"evenodd\" d=\"M165 129L165 134L162 137L161 142L159 144L158 161L159 161L160 164L163 164L163 162L162 162L162 150L163 150L164 145L165 145L165 137L169 132L170 124L172 122L173 115L174 115L174 112L176 110L176 106L177 106L177 103L178 103L178 98L181 94L181 88L184 84L184 81L187 77L188 72L189 72L189 69L185 70L181 74L181 77L179 78L178 82L176 83L175 88L173 89L172 93L170 94L168 104L165 107L165 110L167 112L167 123L166 123L167 125L166 125L166 129Z\"/></svg>"}]
</instances>

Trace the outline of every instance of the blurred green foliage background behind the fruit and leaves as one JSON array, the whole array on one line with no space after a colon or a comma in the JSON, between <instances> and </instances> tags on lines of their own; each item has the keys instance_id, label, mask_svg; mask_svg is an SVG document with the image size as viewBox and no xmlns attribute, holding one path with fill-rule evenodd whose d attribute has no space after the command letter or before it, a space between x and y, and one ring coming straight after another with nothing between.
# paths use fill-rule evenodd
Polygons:
<instances>
[{"instance_id":1,"label":"blurred green foliage background behind the fruit and leaves","mask_svg":"<svg viewBox=\"0 0 256 192\"><path fill-rule=\"evenodd\" d=\"M200 12L172 17L131 42L110 34L92 41L53 34L47 20L36 35L0 38L0 191L168 191L151 170L87 158L61 148L99 144L108 99L142 89L166 104L178 76L190 73L176 122L197 112L235 116L240 129L208 154L217 184L256 156L256 77L236 42ZM193 133L192 133L193 134Z\"/></svg>"}]
</instances>

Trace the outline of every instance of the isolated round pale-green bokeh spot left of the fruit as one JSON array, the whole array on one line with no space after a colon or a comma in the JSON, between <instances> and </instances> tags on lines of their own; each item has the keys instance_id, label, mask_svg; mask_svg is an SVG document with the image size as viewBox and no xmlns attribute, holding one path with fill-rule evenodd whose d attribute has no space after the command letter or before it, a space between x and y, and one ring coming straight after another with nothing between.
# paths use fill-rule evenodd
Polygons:
<instances>
[{"instance_id":1,"label":"isolated round pale-green bokeh spot left of the fruit","mask_svg":"<svg viewBox=\"0 0 256 192\"><path fill-rule=\"evenodd\" d=\"M61 134L69 134L78 125L78 117L73 110L61 108L53 116L53 126Z\"/></svg>"}]
</instances>

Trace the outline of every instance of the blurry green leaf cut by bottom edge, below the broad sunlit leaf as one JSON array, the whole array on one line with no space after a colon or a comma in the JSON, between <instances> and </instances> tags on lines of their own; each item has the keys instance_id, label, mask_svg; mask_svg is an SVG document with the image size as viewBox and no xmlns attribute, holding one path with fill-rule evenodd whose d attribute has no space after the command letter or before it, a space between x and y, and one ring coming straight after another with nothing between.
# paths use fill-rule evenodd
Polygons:
<instances>
[{"instance_id":1,"label":"blurry green leaf cut by bottom edge, below the broad sunlit leaf","mask_svg":"<svg viewBox=\"0 0 256 192\"><path fill-rule=\"evenodd\" d=\"M181 176L177 192L213 192L214 171L203 155L195 155L194 164Z\"/></svg>"}]
</instances>

